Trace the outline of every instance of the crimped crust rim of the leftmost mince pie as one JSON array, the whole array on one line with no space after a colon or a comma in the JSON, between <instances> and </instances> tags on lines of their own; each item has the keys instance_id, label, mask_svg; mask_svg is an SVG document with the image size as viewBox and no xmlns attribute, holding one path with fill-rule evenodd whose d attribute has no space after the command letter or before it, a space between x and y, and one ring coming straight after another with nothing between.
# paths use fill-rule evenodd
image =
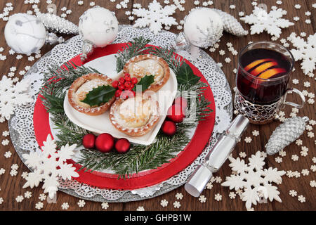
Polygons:
<instances>
[{"instance_id":1,"label":"crimped crust rim of the leftmost mince pie","mask_svg":"<svg viewBox=\"0 0 316 225\"><path fill-rule=\"evenodd\" d=\"M108 101L107 103L92 108L79 105L74 98L76 91L80 88L80 86L83 85L86 81L92 79L101 79L104 80L108 85L112 84L112 79L107 77L106 75L100 75L98 73L90 73L88 75L84 75L76 79L70 86L70 89L68 91L68 101L70 105L72 105L72 107L80 113L85 113L87 115L100 115L105 113L105 111L110 108L112 103L115 101L115 96L113 96L113 98L111 98L110 101Z\"/></svg>"}]
</instances>

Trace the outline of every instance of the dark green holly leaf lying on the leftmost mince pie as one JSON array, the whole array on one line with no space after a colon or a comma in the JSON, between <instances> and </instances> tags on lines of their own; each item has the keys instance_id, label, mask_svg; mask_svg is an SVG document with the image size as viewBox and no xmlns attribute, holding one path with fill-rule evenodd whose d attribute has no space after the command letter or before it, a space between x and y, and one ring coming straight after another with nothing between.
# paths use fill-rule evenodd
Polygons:
<instances>
[{"instance_id":1,"label":"dark green holly leaf lying on the leftmost mince pie","mask_svg":"<svg viewBox=\"0 0 316 225\"><path fill-rule=\"evenodd\" d=\"M81 100L81 102L90 106L100 106L103 103L107 103L114 96L115 91L116 89L110 85L98 86L92 89L92 91L89 91L89 93L86 94L86 98Z\"/></svg>"}]
</instances>

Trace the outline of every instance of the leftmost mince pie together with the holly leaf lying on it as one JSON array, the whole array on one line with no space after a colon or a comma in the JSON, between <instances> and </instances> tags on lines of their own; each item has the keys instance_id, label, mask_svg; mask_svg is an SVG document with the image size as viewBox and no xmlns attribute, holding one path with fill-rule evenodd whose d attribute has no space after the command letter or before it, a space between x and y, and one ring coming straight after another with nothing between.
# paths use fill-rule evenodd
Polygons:
<instances>
[{"instance_id":1,"label":"leftmost mince pie together with the holly leaf lying on it","mask_svg":"<svg viewBox=\"0 0 316 225\"><path fill-rule=\"evenodd\" d=\"M112 79L91 73L76 79L68 91L68 101L80 113L100 115L115 101Z\"/></svg>"}]
</instances>

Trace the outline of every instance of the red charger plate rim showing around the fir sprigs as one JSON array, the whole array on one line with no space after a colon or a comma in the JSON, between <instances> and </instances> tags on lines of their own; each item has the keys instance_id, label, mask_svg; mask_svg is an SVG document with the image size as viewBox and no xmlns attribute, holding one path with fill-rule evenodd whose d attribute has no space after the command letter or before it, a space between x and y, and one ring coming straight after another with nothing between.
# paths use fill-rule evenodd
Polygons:
<instances>
[{"instance_id":1,"label":"red charger plate rim showing around the fir sprigs","mask_svg":"<svg viewBox=\"0 0 316 225\"><path fill-rule=\"evenodd\" d=\"M102 56L117 53L117 51L121 50L124 46L127 46L127 43L110 44L104 48L95 49L86 62ZM82 65L80 56L76 56L70 61L76 65ZM194 65L192 65L192 63L187 60L185 60L185 62L190 65L195 75L201 77L200 80L202 82L208 84L202 73ZM215 123L216 107L209 84L204 91L204 96L211 102L209 107L213 110L213 112L206 117L205 120L199 122L190 143L185 146L184 150L181 151L176 158L170 160L169 163L166 163L157 169L148 169L144 172L138 172L138 174L132 174L129 179L118 179L118 176L115 174L107 174L97 171L84 172L85 169L78 171L78 169L81 168L81 165L77 164L73 160L67 160L67 163L74 164L74 167L77 168L77 172L79 173L79 177L74 179L80 183L96 186L98 188L133 190L159 184L162 181L166 181L171 178L171 176L178 174L202 153L212 134ZM40 96L37 98L37 102L34 107L33 123L37 142L39 143L39 146L43 146L43 141L46 141L48 134L51 134L51 127L49 125L49 114L46 112ZM53 135L51 134L51 136Z\"/></svg>"}]
</instances>

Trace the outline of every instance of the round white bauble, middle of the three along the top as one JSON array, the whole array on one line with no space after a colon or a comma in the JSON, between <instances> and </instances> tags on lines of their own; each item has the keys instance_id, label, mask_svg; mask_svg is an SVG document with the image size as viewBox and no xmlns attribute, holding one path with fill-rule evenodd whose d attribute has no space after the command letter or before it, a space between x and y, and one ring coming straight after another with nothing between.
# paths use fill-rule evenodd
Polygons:
<instances>
[{"instance_id":1,"label":"round white bauble, middle of the three along the top","mask_svg":"<svg viewBox=\"0 0 316 225\"><path fill-rule=\"evenodd\" d=\"M100 6L89 8L79 18L81 37L97 47L111 44L117 37L118 30L119 22L114 13Z\"/></svg>"}]
</instances>

